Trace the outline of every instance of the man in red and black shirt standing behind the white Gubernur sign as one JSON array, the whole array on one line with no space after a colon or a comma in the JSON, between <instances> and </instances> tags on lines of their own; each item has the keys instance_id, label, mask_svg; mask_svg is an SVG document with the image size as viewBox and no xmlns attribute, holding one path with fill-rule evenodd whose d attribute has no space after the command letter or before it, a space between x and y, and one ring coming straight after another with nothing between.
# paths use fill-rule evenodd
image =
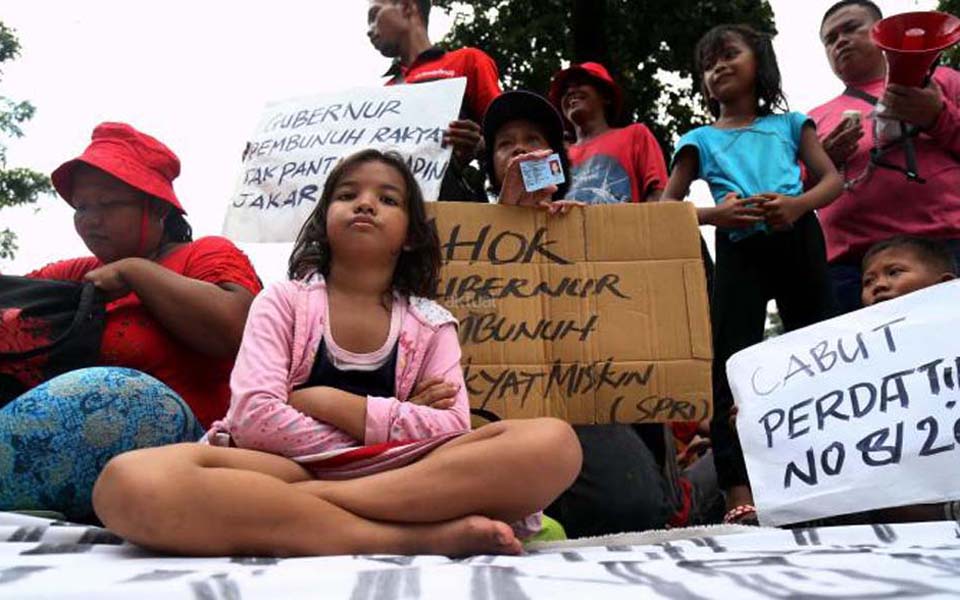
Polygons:
<instances>
[{"instance_id":1,"label":"man in red and black shirt standing behind the white Gubernur sign","mask_svg":"<svg viewBox=\"0 0 960 600\"><path fill-rule=\"evenodd\" d=\"M433 46L427 34L429 19L430 0L370 0L367 35L381 54L395 59L386 72L387 85L467 78L460 118L450 123L443 136L444 144L453 146L453 158L440 186L440 199L486 202L483 176L466 166L480 155L483 138L478 123L500 95L497 65L477 48L448 52Z\"/></svg>"}]
</instances>

